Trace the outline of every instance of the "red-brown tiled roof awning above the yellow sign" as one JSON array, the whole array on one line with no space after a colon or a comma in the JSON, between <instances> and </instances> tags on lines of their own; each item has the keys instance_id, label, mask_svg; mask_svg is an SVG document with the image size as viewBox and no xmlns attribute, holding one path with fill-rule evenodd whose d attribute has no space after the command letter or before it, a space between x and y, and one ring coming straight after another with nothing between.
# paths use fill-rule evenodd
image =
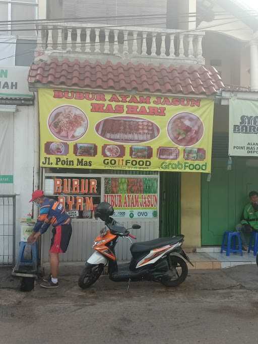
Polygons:
<instances>
[{"instance_id":1,"label":"red-brown tiled roof awning above the yellow sign","mask_svg":"<svg viewBox=\"0 0 258 344\"><path fill-rule=\"evenodd\" d=\"M81 62L68 59L32 64L30 84L68 86L103 90L211 95L224 88L218 72L212 66L162 64L113 64L107 61Z\"/></svg>"}]
</instances>

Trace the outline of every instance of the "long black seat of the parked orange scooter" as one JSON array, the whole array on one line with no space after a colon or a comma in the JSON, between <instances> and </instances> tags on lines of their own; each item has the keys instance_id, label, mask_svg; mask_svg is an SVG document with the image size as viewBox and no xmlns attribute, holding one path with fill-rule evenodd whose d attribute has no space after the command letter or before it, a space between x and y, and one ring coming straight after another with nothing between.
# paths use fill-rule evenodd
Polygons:
<instances>
[{"instance_id":1,"label":"long black seat of the parked orange scooter","mask_svg":"<svg viewBox=\"0 0 258 344\"><path fill-rule=\"evenodd\" d=\"M177 235L171 238L158 238L149 241L136 242L131 245L130 251L132 255L142 252L150 251L154 248L159 248L166 245L173 245L183 240L183 235Z\"/></svg>"}]
</instances>

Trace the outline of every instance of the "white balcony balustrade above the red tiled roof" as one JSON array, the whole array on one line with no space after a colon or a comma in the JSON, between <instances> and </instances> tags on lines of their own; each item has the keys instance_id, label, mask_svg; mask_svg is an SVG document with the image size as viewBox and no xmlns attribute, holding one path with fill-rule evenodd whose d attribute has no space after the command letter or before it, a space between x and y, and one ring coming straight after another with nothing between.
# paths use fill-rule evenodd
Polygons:
<instances>
[{"instance_id":1,"label":"white balcony balustrade above the red tiled roof","mask_svg":"<svg viewBox=\"0 0 258 344\"><path fill-rule=\"evenodd\" d=\"M204 32L78 23L38 25L37 29L38 55L62 51L122 58L178 59L183 63L204 62Z\"/></svg>"}]
</instances>

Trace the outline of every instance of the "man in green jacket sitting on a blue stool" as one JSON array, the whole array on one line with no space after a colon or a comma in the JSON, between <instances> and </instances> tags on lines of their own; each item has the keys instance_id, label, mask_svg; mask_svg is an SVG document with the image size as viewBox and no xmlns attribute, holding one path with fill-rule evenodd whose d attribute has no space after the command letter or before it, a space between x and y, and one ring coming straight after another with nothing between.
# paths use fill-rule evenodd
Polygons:
<instances>
[{"instance_id":1,"label":"man in green jacket sitting on a blue stool","mask_svg":"<svg viewBox=\"0 0 258 344\"><path fill-rule=\"evenodd\" d=\"M258 232L258 192L249 192L250 202L245 205L242 221L236 225L236 230L241 232L242 249L247 251L246 234Z\"/></svg>"}]
</instances>

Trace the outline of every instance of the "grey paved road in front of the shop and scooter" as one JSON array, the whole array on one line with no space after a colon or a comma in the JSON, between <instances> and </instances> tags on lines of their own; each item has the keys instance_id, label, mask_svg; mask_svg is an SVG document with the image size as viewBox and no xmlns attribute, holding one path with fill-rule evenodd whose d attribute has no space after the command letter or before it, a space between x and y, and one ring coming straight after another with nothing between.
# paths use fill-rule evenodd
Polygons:
<instances>
[{"instance_id":1,"label":"grey paved road in front of the shop and scooter","mask_svg":"<svg viewBox=\"0 0 258 344\"><path fill-rule=\"evenodd\" d=\"M15 286L2 269L1 344L258 342L256 265L192 270L176 289L132 283L128 294L106 277L87 291L77 276L64 276L58 290Z\"/></svg>"}]
</instances>

